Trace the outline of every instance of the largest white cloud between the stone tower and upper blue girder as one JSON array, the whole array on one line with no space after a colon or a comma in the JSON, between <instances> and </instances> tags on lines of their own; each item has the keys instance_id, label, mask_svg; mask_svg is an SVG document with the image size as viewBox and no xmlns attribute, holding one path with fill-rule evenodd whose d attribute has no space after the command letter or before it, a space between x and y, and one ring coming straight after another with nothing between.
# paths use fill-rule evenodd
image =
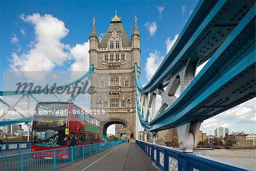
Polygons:
<instances>
[{"instance_id":1,"label":"largest white cloud between the stone tower and upper blue girder","mask_svg":"<svg viewBox=\"0 0 256 171\"><path fill-rule=\"evenodd\" d=\"M146 77L150 81L151 77L154 75L159 65L163 61L164 57L160 55L160 52L155 51L149 54L146 62Z\"/></svg>"}]
</instances>

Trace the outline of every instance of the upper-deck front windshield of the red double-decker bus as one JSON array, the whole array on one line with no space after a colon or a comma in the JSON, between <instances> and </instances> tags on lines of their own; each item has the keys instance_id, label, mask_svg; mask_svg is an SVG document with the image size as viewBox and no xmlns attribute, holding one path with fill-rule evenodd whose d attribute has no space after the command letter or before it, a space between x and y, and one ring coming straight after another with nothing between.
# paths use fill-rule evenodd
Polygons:
<instances>
[{"instance_id":1,"label":"upper-deck front windshield of the red double-decker bus","mask_svg":"<svg viewBox=\"0 0 256 171\"><path fill-rule=\"evenodd\" d=\"M68 103L40 103L36 113L38 115L67 116Z\"/></svg>"}]
</instances>

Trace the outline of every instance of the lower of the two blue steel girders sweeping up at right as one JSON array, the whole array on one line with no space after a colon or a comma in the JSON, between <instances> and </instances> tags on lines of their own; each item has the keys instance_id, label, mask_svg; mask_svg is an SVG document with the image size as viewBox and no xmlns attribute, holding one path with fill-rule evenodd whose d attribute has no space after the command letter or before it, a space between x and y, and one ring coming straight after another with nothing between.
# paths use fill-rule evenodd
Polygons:
<instances>
[{"instance_id":1,"label":"lower of the two blue steel girders sweeping up at right","mask_svg":"<svg viewBox=\"0 0 256 171\"><path fill-rule=\"evenodd\" d=\"M255 5L150 131L203 122L255 97Z\"/></svg>"}]
</instances>

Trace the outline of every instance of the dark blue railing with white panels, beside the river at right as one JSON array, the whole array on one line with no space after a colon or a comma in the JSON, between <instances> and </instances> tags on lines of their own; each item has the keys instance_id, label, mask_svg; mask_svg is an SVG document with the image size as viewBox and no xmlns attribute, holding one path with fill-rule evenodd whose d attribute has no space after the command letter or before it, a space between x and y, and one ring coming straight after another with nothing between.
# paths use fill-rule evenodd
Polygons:
<instances>
[{"instance_id":1,"label":"dark blue railing with white panels, beside the river at right","mask_svg":"<svg viewBox=\"0 0 256 171\"><path fill-rule=\"evenodd\" d=\"M256 170L253 166L234 164L196 152L185 153L179 149L138 140L136 143L161 170Z\"/></svg>"}]
</instances>

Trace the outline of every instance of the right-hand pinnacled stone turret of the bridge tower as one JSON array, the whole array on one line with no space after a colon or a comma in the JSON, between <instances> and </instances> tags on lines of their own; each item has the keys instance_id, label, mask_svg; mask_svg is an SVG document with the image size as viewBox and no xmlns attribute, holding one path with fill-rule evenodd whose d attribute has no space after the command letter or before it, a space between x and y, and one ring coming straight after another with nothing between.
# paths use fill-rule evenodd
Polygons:
<instances>
[{"instance_id":1,"label":"right-hand pinnacled stone turret of the bridge tower","mask_svg":"<svg viewBox=\"0 0 256 171\"><path fill-rule=\"evenodd\" d=\"M139 53L141 53L141 48L140 48L141 35L139 35L137 20L138 20L137 16L135 15L135 18L134 18L135 24L134 24L133 34L131 35L131 59L133 61L133 66L134 66L134 63L137 63L137 66L140 67Z\"/></svg>"}]
</instances>

